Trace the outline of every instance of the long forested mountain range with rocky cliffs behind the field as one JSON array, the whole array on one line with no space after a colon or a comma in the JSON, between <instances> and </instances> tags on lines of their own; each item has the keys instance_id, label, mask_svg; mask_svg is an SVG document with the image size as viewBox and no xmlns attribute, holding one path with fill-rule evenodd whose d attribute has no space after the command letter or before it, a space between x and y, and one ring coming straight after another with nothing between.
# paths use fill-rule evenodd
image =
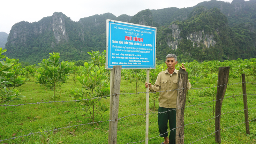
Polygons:
<instances>
[{"instance_id":1,"label":"long forested mountain range with rocky cliffs behind the field","mask_svg":"<svg viewBox=\"0 0 256 144\"><path fill-rule=\"evenodd\" d=\"M88 60L88 51L103 51L106 19L157 27L156 55L175 53L182 61L249 59L256 56L256 0L211 0L190 8L142 10L134 16L111 13L72 21L55 12L34 23L13 25L7 56L38 63L49 52L62 60Z\"/></svg>"}]
</instances>

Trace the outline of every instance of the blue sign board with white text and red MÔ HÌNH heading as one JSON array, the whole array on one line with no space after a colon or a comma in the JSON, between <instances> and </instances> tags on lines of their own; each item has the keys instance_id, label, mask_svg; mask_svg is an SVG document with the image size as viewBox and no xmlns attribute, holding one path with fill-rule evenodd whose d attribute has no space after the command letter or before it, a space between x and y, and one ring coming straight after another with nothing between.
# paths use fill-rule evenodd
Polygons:
<instances>
[{"instance_id":1,"label":"blue sign board with white text and red M\u00d4 H\u00ccNH heading","mask_svg":"<svg viewBox=\"0 0 256 144\"><path fill-rule=\"evenodd\" d=\"M106 69L155 69L156 28L107 20Z\"/></svg>"}]
</instances>

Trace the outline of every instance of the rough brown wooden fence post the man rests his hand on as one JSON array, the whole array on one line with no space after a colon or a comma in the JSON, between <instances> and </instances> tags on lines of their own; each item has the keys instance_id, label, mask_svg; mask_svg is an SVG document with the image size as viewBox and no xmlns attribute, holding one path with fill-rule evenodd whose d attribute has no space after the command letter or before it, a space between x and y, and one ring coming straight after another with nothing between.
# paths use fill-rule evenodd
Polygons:
<instances>
[{"instance_id":1,"label":"rough brown wooden fence post the man rests his hand on","mask_svg":"<svg viewBox=\"0 0 256 144\"><path fill-rule=\"evenodd\" d=\"M176 104L176 144L184 144L184 111L188 87L188 73L180 69L178 74L178 92ZM183 89L185 88L185 89ZM179 127L179 128L178 128Z\"/></svg>"}]
</instances>

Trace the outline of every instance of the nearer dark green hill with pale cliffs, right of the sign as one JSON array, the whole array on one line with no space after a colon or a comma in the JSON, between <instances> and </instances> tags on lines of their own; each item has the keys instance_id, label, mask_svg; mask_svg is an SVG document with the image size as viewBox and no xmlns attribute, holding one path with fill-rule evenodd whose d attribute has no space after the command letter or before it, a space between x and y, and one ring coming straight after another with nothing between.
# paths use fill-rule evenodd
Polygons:
<instances>
[{"instance_id":1,"label":"nearer dark green hill with pale cliffs, right of the sign","mask_svg":"<svg viewBox=\"0 0 256 144\"><path fill-rule=\"evenodd\" d=\"M208 10L199 6L186 21L173 22L158 31L163 35L158 35L157 55L164 59L167 51L177 54L184 61L253 58L256 55L256 35L252 29L251 23L231 28L227 17L219 9Z\"/></svg>"}]
</instances>

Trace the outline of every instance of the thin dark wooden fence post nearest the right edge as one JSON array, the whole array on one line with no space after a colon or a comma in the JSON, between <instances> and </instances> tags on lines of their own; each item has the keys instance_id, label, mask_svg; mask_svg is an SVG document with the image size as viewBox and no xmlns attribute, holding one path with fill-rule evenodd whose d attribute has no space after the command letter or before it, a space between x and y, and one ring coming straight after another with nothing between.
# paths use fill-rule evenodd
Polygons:
<instances>
[{"instance_id":1,"label":"thin dark wooden fence post nearest the right edge","mask_svg":"<svg viewBox=\"0 0 256 144\"><path fill-rule=\"evenodd\" d=\"M248 119L248 106L247 106L245 74L242 74L242 88L243 88L243 109L244 109L246 134L250 135L249 122L248 122L249 119Z\"/></svg>"}]
</instances>

